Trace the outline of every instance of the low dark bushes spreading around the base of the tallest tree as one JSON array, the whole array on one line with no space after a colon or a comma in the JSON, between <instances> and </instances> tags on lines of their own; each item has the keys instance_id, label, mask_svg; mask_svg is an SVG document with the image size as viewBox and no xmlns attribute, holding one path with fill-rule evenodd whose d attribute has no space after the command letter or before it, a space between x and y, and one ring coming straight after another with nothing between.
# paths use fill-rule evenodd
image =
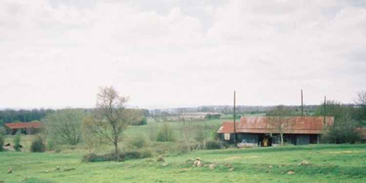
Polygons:
<instances>
[{"instance_id":1,"label":"low dark bushes spreading around the base of the tallest tree","mask_svg":"<svg viewBox=\"0 0 366 183\"><path fill-rule=\"evenodd\" d=\"M107 153L103 155L97 155L95 153L90 153L82 157L81 162L110 162L124 160L131 160L131 159L142 159L142 158L149 158L152 157L153 154L149 150L130 150L126 152L119 152L118 155L116 153Z\"/></svg>"}]
</instances>

